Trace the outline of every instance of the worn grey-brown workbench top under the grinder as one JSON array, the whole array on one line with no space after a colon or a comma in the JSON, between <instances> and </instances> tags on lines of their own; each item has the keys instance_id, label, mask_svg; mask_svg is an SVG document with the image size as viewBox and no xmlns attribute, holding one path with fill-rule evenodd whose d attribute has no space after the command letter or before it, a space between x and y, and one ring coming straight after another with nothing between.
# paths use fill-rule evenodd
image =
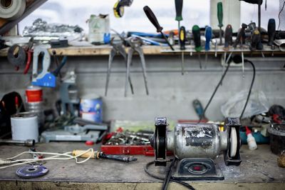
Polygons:
<instances>
[{"instance_id":1,"label":"worn grey-brown workbench top under the grinder","mask_svg":"<svg viewBox=\"0 0 285 190\"><path fill-rule=\"evenodd\" d=\"M73 149L89 149L83 143L56 143L37 144L38 151L66 152ZM0 146L1 157L10 157L27 151L24 146ZM223 181L195 181L191 184L197 189L231 189L243 186L249 189L284 189L285 188L285 169L277 166L277 156L271 154L268 145L259 145L255 151L249 151L247 145L241 149L242 164L240 166L225 166L222 155L215 160L224 174ZM117 184L117 187L123 189L159 189L160 180L154 179L143 170L147 162L152 161L153 157L136 156L138 161L123 163L112 160L89 160L83 164L76 164L74 160L68 161L48 161L46 166L48 174L36 179L21 179L16 176L15 171L19 166L12 166L7 169L0 169L0 189L24 188L28 181L38 188L43 187L81 187L82 184L90 184L93 188L110 188L108 184ZM165 174L165 167L151 166L150 171L154 174ZM35 182L42 182L35 184ZM94 184L95 183L95 184ZM108 183L108 184L106 184ZM122 184L123 183L123 184ZM147 184L145 184L147 183ZM41 184L41 185L40 185ZM203 185L202 185L203 184ZM227 184L227 186L225 185ZM43 186L44 185L44 186ZM172 187L179 184L171 184ZM6 189L7 189L6 188ZM184 188L184 187L183 187ZM25 188L24 188L25 189ZM43 188L46 189L46 188ZM63 188L64 189L64 188ZM92 189L92 188L91 188ZM115 188L117 189L117 188Z\"/></svg>"}]
</instances>

